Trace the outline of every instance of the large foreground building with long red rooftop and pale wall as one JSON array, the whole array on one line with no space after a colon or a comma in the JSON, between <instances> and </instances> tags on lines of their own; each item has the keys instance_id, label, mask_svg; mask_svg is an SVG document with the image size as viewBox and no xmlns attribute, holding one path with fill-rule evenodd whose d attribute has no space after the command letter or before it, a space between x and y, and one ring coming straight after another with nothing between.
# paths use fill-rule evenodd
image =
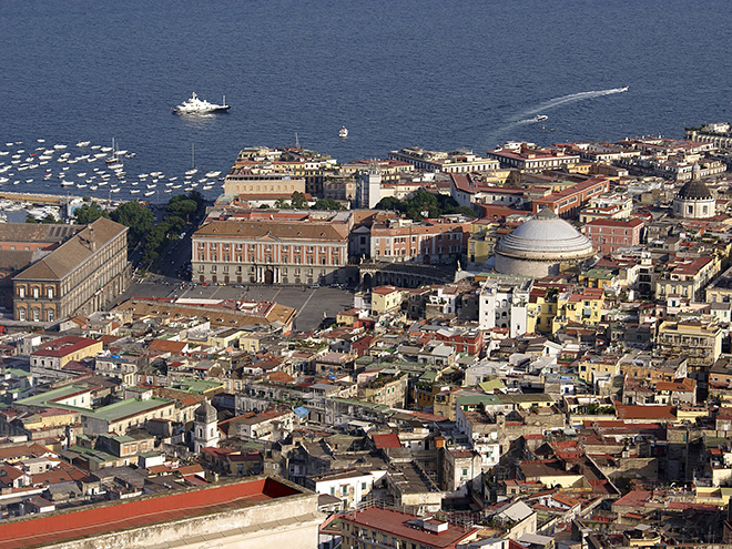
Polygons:
<instances>
[{"instance_id":1,"label":"large foreground building with long red rooftop and pale wall","mask_svg":"<svg viewBox=\"0 0 732 549\"><path fill-rule=\"evenodd\" d=\"M309 549L322 521L316 494L254 477L4 520L0 546L193 549L215 539L226 547Z\"/></svg>"}]
</instances>

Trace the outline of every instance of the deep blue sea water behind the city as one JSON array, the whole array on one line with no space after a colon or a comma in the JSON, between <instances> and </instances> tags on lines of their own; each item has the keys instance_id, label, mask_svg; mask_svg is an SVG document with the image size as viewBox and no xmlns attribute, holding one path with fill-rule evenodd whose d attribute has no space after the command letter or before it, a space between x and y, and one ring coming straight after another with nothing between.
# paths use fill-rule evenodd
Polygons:
<instances>
[{"instance_id":1,"label":"deep blue sea water behind the city","mask_svg":"<svg viewBox=\"0 0 732 549\"><path fill-rule=\"evenodd\" d=\"M197 182L244 146L296 136L340 161L411 145L682 136L732 119L730 21L729 0L2 0L2 189L106 197L110 185L89 189L103 159L69 165L57 152L18 171L54 144L74 159L79 141L136 153L113 196L142 199L128 194L136 174L162 172L160 192L193 161ZM225 94L231 112L171 114L193 91Z\"/></svg>"}]
</instances>

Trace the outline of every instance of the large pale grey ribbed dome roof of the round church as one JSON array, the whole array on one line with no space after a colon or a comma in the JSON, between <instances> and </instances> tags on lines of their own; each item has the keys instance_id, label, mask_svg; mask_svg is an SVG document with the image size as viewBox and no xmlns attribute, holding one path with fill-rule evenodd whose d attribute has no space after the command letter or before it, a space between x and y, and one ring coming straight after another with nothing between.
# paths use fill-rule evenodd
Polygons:
<instances>
[{"instance_id":1,"label":"large pale grey ribbed dome roof of the round church","mask_svg":"<svg viewBox=\"0 0 732 549\"><path fill-rule=\"evenodd\" d=\"M545 209L504 236L497 252L520 260L561 261L587 258L594 250L572 225Z\"/></svg>"}]
</instances>

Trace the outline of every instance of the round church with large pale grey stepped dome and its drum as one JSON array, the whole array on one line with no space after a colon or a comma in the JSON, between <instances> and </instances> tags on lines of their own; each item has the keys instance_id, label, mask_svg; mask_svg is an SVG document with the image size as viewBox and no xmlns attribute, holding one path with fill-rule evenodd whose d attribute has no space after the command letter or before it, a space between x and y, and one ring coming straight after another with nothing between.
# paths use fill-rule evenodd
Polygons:
<instances>
[{"instance_id":1,"label":"round church with large pale grey stepped dome and its drum","mask_svg":"<svg viewBox=\"0 0 732 549\"><path fill-rule=\"evenodd\" d=\"M540 278L594 255L592 243L549 209L521 223L496 246L496 271Z\"/></svg>"}]
</instances>

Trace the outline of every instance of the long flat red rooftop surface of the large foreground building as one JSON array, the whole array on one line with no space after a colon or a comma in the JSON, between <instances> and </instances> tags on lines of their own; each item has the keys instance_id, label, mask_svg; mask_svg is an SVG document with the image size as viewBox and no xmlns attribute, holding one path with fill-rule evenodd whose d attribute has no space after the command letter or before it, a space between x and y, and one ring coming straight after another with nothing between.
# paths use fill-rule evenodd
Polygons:
<instances>
[{"instance_id":1,"label":"long flat red rooftop surface of the large foreground building","mask_svg":"<svg viewBox=\"0 0 732 549\"><path fill-rule=\"evenodd\" d=\"M255 478L32 515L0 523L0 547L20 549L60 543L207 516L299 494L305 492L274 478Z\"/></svg>"}]
</instances>

